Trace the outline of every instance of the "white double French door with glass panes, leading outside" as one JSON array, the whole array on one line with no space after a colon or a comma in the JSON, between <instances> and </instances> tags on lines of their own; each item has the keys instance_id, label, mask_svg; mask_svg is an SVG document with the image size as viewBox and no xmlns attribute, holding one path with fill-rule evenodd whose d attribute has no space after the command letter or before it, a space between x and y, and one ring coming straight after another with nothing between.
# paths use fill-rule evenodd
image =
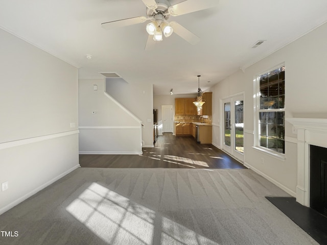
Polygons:
<instances>
[{"instance_id":1,"label":"white double French door with glass panes, leading outside","mask_svg":"<svg viewBox=\"0 0 327 245\"><path fill-rule=\"evenodd\" d=\"M222 100L223 125L222 148L231 156L244 161L244 96L243 94Z\"/></svg>"}]
</instances>

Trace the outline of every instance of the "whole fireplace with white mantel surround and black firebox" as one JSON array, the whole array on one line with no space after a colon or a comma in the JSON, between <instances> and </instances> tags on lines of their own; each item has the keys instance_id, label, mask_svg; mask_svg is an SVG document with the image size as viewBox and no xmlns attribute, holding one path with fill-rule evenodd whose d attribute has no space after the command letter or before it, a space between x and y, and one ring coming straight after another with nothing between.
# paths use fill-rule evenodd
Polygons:
<instances>
[{"instance_id":1,"label":"whole fireplace with white mantel surround and black firebox","mask_svg":"<svg viewBox=\"0 0 327 245\"><path fill-rule=\"evenodd\" d=\"M311 157L314 158L317 146L327 148L327 119L325 118L286 118L297 131L297 185L296 185L296 201L307 207L317 207L319 212L324 212L323 205L317 204L317 199L326 200L325 189L320 188L321 185L326 186L327 179L321 177L321 173L327 171L327 159L318 159L317 163L311 163ZM325 150L325 149L324 149ZM319 153L320 154L320 153ZM324 154L326 156L326 154ZM314 160L315 161L315 160ZM320 161L320 163L319 163ZM314 165L311 169L311 165ZM325 170L326 169L326 170ZM322 171L322 172L321 172ZM317 177L320 181L312 183ZM320 185L317 190L317 186ZM311 188L312 187L312 188ZM321 189L323 193L321 194ZM312 192L312 197L311 197ZM319 198L315 197L317 192L320 192Z\"/></svg>"}]
</instances>

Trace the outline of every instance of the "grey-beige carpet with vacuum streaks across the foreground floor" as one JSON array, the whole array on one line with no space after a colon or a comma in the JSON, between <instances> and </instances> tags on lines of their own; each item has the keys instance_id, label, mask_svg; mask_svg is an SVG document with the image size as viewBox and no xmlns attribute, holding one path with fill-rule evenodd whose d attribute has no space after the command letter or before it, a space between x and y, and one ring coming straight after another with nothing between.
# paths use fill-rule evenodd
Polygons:
<instances>
[{"instance_id":1,"label":"grey-beige carpet with vacuum streaks across the foreground floor","mask_svg":"<svg viewBox=\"0 0 327 245\"><path fill-rule=\"evenodd\" d=\"M79 168L0 216L0 244L318 244L250 169Z\"/></svg>"}]
</instances>

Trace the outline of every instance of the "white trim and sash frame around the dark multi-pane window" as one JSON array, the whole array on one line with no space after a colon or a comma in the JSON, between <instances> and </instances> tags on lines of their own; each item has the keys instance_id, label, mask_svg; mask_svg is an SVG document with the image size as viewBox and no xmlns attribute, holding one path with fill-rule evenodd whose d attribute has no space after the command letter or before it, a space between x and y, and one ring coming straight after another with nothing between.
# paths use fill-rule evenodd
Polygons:
<instances>
[{"instance_id":1,"label":"white trim and sash frame around the dark multi-pane window","mask_svg":"<svg viewBox=\"0 0 327 245\"><path fill-rule=\"evenodd\" d=\"M285 161L285 159L286 159L285 154L278 153L278 152L275 152L273 150L269 150L268 148L265 148L265 147L259 145L259 112L260 111L265 111L265 112L267 111L267 110L260 109L260 81L259 81L259 77L261 75L263 75L263 74L266 74L269 71L272 71L272 70L277 69L277 68L282 67L282 66L285 66L285 63L281 63L281 64L278 64L276 66L273 66L273 67L269 68L268 70L260 72L260 74L253 77L253 114L254 114L254 117L253 117L254 118L254 122L253 122L253 124L254 124L254 127L253 127L254 128L253 144L254 145L252 146L252 148L254 150L256 150L256 151L260 151L261 153L264 153L266 155L274 157L274 158L276 158L278 160ZM277 112L284 111L285 112L285 109L286 108L284 106L284 109L270 109L269 112L274 112L274 111L277 111ZM285 123L285 120L284 120L284 123ZM285 139L284 139L284 141L286 142Z\"/></svg>"}]
</instances>

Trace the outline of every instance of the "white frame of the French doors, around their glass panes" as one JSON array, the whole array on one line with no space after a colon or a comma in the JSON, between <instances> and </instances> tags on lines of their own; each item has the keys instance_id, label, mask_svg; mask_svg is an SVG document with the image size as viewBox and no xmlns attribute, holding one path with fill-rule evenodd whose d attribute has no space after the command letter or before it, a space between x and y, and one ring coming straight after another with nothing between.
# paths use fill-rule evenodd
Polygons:
<instances>
[{"instance_id":1,"label":"white frame of the French doors, around their glass panes","mask_svg":"<svg viewBox=\"0 0 327 245\"><path fill-rule=\"evenodd\" d=\"M222 150L230 154L232 157L237 158L241 162L244 162L244 153L240 153L237 150L235 150L235 102L236 101L243 101L244 104L244 92L237 93L230 95L228 97L225 97L223 99L220 99L220 105L221 105L221 125L220 125L220 145L222 146ZM224 144L224 137L225 137L225 103L230 103L230 146ZM244 111L243 111L244 113ZM244 117L244 116L243 116ZM244 129L244 128L243 128ZM244 134L244 131L243 131ZM243 138L243 145L244 145L244 138Z\"/></svg>"}]
</instances>

